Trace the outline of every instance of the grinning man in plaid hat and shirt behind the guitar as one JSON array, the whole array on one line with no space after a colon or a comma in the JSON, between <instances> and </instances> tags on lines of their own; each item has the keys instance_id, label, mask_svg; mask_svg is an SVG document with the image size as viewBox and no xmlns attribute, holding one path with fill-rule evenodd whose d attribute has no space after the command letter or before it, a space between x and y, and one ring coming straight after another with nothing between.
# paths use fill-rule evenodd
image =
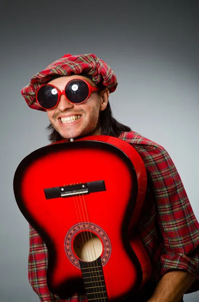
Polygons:
<instances>
[{"instance_id":1,"label":"grinning man in plaid hat and shirt behind the guitar","mask_svg":"<svg viewBox=\"0 0 199 302\"><path fill-rule=\"evenodd\" d=\"M137 231L150 257L152 274L134 301L182 301L186 291L199 288L199 225L165 149L113 118L108 97L116 87L114 72L97 56L69 54L37 73L22 95L31 108L47 111L52 142L103 134L117 136L137 150L148 177ZM46 246L30 226L33 289L41 301L69 301L50 293L47 263ZM72 298L83 301L84 295Z\"/></svg>"}]
</instances>

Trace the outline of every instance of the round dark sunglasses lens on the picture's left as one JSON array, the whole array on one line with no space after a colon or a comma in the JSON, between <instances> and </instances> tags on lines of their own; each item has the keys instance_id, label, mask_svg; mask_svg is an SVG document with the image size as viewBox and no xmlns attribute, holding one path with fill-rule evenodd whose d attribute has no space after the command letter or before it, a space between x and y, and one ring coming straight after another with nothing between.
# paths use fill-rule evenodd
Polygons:
<instances>
[{"instance_id":1,"label":"round dark sunglasses lens on the picture's left","mask_svg":"<svg viewBox=\"0 0 199 302\"><path fill-rule=\"evenodd\" d=\"M37 93L37 100L41 107L51 109L55 107L58 101L58 92L51 85L42 86Z\"/></svg>"}]
</instances>

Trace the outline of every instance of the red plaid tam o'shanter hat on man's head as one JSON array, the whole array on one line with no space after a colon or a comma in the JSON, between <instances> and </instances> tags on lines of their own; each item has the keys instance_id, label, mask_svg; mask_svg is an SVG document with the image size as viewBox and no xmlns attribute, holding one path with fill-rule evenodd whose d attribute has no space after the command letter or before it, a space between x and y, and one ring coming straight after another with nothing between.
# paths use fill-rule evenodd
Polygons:
<instances>
[{"instance_id":1,"label":"red plaid tam o'shanter hat on man's head","mask_svg":"<svg viewBox=\"0 0 199 302\"><path fill-rule=\"evenodd\" d=\"M28 106L32 109L46 111L36 102L36 93L45 83L48 83L55 75L71 75L87 73L91 75L95 84L101 83L104 87L114 92L117 87L117 78L110 66L100 60L94 54L71 55L65 54L56 60L43 71L38 72L32 77L29 85L25 86L21 93Z\"/></svg>"}]
</instances>

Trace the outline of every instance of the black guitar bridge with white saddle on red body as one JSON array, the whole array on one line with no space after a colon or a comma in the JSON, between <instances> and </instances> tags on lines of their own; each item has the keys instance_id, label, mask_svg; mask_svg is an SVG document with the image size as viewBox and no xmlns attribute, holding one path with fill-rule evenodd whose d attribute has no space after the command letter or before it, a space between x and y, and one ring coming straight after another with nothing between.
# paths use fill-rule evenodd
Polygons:
<instances>
[{"instance_id":1,"label":"black guitar bridge with white saddle on red body","mask_svg":"<svg viewBox=\"0 0 199 302\"><path fill-rule=\"evenodd\" d=\"M106 191L104 180L74 184L70 186L53 187L44 189L46 199L70 197L82 194Z\"/></svg>"}]
</instances>

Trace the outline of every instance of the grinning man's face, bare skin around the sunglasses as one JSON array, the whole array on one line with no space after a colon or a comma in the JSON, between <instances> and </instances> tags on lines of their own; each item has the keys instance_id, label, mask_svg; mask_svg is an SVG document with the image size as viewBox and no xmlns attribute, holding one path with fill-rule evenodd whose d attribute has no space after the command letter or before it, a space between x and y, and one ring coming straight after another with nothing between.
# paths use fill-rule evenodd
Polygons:
<instances>
[{"instance_id":1,"label":"grinning man's face, bare skin around the sunglasses","mask_svg":"<svg viewBox=\"0 0 199 302\"><path fill-rule=\"evenodd\" d=\"M66 84L73 78L84 79L92 86L95 84L81 75L70 75L55 79L49 84L59 90L64 90ZM72 104L64 95L61 96L57 107L47 110L48 118L52 126L64 138L75 138L82 135L99 135L99 114L106 108L109 91L105 89L100 92L93 92L83 104Z\"/></svg>"}]
</instances>

